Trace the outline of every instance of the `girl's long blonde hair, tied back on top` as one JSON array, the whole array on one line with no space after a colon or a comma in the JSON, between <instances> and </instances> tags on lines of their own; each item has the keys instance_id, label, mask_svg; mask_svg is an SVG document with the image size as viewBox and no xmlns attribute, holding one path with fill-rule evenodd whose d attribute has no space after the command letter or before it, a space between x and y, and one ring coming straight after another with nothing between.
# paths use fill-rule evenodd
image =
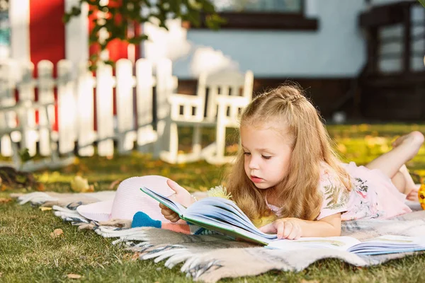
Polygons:
<instances>
[{"instance_id":1,"label":"girl's long blonde hair, tied back on top","mask_svg":"<svg viewBox=\"0 0 425 283\"><path fill-rule=\"evenodd\" d=\"M318 190L320 163L327 163L347 190L351 188L349 176L339 165L319 113L299 86L284 85L257 96L242 112L240 126L268 121L286 125L293 137L288 174L275 187L259 190L246 176L244 152L239 149L237 161L227 173L227 190L250 219L270 216L265 194L273 190L273 204L280 207L281 217L314 220L322 207L322 192Z\"/></svg>"}]
</instances>

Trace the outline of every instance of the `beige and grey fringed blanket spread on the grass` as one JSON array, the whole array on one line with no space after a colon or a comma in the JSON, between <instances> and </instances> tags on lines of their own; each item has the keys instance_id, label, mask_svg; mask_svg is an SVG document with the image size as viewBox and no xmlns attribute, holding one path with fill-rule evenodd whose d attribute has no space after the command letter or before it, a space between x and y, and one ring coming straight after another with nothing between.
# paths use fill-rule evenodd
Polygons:
<instances>
[{"instance_id":1,"label":"beige and grey fringed blanket spread on the grass","mask_svg":"<svg viewBox=\"0 0 425 283\"><path fill-rule=\"evenodd\" d=\"M317 248L297 252L272 250L251 243L232 241L220 235L186 235L145 227L130 229L130 221L119 219L108 222L90 221L75 210L81 204L111 200L114 193L33 192L12 197L18 197L21 204L30 202L50 206L56 216L79 226L79 229L93 229L103 237L117 238L113 241L114 245L120 244L138 253L141 260L164 260L165 266L169 268L183 263L181 272L186 272L186 275L196 281L216 282L225 277L259 275L268 270L300 271L324 258L339 258L351 265L364 267L414 254L370 256ZM418 209L419 206L413 208ZM342 226L343 236L352 236L361 241L385 234L425 236L425 211L419 210L388 220L345 221Z\"/></svg>"}]
</instances>

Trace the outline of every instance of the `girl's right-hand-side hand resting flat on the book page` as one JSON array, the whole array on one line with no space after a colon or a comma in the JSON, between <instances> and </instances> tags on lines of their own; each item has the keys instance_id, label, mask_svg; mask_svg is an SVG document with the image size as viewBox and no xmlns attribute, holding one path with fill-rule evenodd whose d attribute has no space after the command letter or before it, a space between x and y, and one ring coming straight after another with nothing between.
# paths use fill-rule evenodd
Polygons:
<instances>
[{"instance_id":1,"label":"girl's right-hand-side hand resting flat on the book page","mask_svg":"<svg viewBox=\"0 0 425 283\"><path fill-rule=\"evenodd\" d=\"M300 219L282 218L260 228L263 233L277 233L278 238L296 240L302 236Z\"/></svg>"}]
</instances>

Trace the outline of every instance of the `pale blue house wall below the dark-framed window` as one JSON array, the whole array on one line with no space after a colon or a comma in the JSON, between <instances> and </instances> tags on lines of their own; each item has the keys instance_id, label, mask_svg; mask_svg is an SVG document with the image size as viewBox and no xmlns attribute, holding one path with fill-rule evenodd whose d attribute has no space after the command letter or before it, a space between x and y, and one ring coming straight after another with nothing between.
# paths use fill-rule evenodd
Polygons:
<instances>
[{"instance_id":1,"label":"pale blue house wall below the dark-framed window","mask_svg":"<svg viewBox=\"0 0 425 283\"><path fill-rule=\"evenodd\" d=\"M314 31L189 29L190 50L174 59L174 74L193 78L222 58L222 67L251 69L256 77L356 76L366 59L357 21L363 8L363 1L307 0L305 16L319 21Z\"/></svg>"}]
</instances>

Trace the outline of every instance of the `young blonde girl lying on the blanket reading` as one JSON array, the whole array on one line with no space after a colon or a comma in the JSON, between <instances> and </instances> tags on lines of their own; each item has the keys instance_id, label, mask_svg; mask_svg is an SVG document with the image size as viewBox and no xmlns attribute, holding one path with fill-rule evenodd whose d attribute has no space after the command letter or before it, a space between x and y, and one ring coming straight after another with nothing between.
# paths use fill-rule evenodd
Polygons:
<instances>
[{"instance_id":1,"label":"young blonde girl lying on the blanket reading","mask_svg":"<svg viewBox=\"0 0 425 283\"><path fill-rule=\"evenodd\" d=\"M295 86L252 100L242 113L240 137L227 191L250 219L264 220L261 231L278 238L339 236L341 221L404 214L411 211L406 195L417 197L404 163L424 142L420 132L399 137L366 166L340 163L317 110ZM182 204L193 203L183 187L168 184ZM179 220L160 207L166 219Z\"/></svg>"}]
</instances>

